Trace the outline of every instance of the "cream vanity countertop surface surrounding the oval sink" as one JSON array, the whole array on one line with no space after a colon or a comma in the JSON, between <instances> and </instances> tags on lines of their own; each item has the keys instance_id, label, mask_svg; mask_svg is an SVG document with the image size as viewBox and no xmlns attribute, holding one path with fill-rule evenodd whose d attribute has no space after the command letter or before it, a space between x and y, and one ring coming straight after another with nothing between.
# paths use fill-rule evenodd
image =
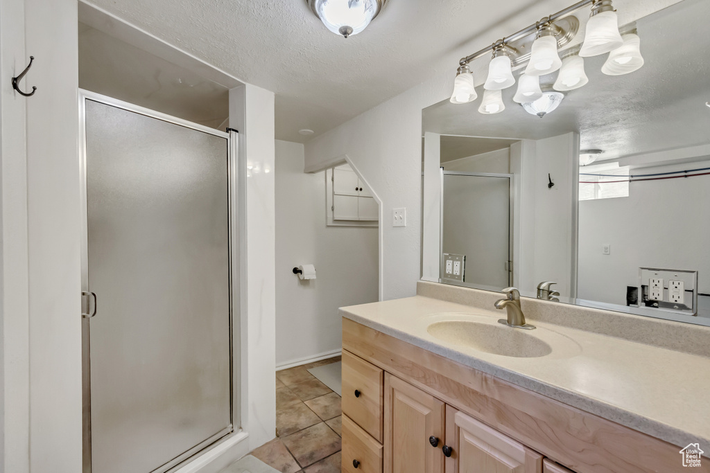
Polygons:
<instances>
[{"instance_id":1,"label":"cream vanity countertop surface surrounding the oval sink","mask_svg":"<svg viewBox=\"0 0 710 473\"><path fill-rule=\"evenodd\" d=\"M470 318L495 323L506 317L505 311L424 296L340 310L351 321L461 365L679 447L699 442L710 452L708 357L538 321L529 321L540 328L529 334L548 343L550 355L507 357L445 343L427 332L438 321Z\"/></svg>"}]
</instances>

